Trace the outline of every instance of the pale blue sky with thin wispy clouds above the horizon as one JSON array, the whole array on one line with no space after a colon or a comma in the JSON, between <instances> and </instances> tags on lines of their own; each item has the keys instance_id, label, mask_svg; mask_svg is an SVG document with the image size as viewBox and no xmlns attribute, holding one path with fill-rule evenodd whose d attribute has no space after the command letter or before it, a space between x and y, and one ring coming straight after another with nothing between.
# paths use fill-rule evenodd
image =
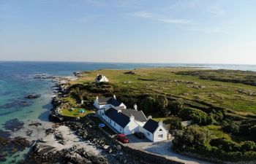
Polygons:
<instances>
[{"instance_id":1,"label":"pale blue sky with thin wispy clouds above the horizon","mask_svg":"<svg viewBox=\"0 0 256 164\"><path fill-rule=\"evenodd\" d=\"M0 60L256 64L256 1L0 0Z\"/></svg>"}]
</instances>

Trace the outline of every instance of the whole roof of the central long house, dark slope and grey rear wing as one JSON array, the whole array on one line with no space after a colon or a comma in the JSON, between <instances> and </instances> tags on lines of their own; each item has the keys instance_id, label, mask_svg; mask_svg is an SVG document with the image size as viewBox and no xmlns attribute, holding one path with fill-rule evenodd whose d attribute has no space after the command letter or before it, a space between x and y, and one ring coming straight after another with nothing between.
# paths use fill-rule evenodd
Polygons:
<instances>
[{"instance_id":1,"label":"whole roof of the central long house, dark slope and grey rear wing","mask_svg":"<svg viewBox=\"0 0 256 164\"><path fill-rule=\"evenodd\" d=\"M142 111L136 111L135 109L121 109L121 112L118 112L118 109L110 108L105 112L107 117L116 122L122 128L129 123L129 117L131 114L135 117L135 120L141 122L147 120Z\"/></svg>"}]
</instances>

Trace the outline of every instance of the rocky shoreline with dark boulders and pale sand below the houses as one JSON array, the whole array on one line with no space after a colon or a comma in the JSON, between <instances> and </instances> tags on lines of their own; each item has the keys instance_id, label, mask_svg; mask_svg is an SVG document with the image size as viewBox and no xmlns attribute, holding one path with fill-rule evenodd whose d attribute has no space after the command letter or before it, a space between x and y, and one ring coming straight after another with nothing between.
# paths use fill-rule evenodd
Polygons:
<instances>
[{"instance_id":1,"label":"rocky shoreline with dark boulders and pale sand below the houses","mask_svg":"<svg viewBox=\"0 0 256 164\"><path fill-rule=\"evenodd\" d=\"M63 103L60 98L69 90L66 82L61 79L61 82L56 82L54 86L56 95L52 100L53 109L50 110L49 120L56 122L56 127L45 130L45 138L34 143L22 163L148 163L136 155L125 153L120 144L106 138L106 134L88 118L78 120L59 114Z\"/></svg>"}]
</instances>

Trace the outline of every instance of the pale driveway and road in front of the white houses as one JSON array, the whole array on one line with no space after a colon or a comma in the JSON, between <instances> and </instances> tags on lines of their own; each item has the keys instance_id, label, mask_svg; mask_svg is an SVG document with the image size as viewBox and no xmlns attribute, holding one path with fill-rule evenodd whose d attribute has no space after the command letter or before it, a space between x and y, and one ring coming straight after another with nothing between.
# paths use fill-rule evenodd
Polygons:
<instances>
[{"instance_id":1,"label":"pale driveway and road in front of the white houses","mask_svg":"<svg viewBox=\"0 0 256 164\"><path fill-rule=\"evenodd\" d=\"M174 152L170 147L172 147L172 142L161 141L161 142L151 142L147 139L138 139L133 135L129 135L129 144L127 146L132 147L134 149L143 149L147 152L152 152L157 155L162 155L170 160L175 160L181 163L186 164L213 164L203 160L198 160L194 157L188 157L186 155L180 155Z\"/></svg>"}]
</instances>

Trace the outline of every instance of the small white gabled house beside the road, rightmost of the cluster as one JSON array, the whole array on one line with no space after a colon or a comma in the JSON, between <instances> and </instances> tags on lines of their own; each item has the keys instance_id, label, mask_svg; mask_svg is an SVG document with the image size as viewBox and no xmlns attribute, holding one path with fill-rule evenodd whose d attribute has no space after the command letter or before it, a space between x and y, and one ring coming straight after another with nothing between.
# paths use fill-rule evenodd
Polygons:
<instances>
[{"instance_id":1,"label":"small white gabled house beside the road, rightmost of the cluster","mask_svg":"<svg viewBox=\"0 0 256 164\"><path fill-rule=\"evenodd\" d=\"M151 118L143 126L143 133L151 141L167 140L167 130L163 127L162 121L156 122Z\"/></svg>"}]
</instances>

